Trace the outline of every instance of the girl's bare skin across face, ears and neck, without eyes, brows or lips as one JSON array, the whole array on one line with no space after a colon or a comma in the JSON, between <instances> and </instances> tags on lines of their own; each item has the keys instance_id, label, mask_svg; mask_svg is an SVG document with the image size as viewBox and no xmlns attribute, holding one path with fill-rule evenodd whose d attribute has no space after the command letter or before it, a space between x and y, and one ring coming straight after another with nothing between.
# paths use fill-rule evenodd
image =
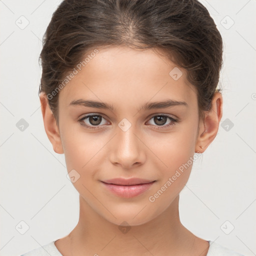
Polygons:
<instances>
[{"instance_id":1,"label":"girl's bare skin across face, ears and neck, without eyes, brows or lips","mask_svg":"<svg viewBox=\"0 0 256 256\"><path fill-rule=\"evenodd\" d=\"M99 48L59 92L59 126L45 94L40 94L44 127L53 149L64 153L68 172L75 169L80 175L73 183L79 192L78 223L55 242L64 256L207 254L208 241L192 234L179 219L179 192L192 164L155 201L148 198L194 152L202 153L214 139L222 116L222 96L215 92L212 108L199 120L196 90L186 80L186 71L179 68L183 74L174 80L169 72L175 64L160 53L152 48ZM76 99L106 102L115 109L70 106ZM141 104L166 99L185 101L187 106L139 110ZM78 121L89 113L103 116L94 130L81 125L93 126L89 118ZM160 114L178 121L163 127L172 121L167 118L160 125L153 118ZM118 126L123 118L131 124L126 131ZM136 197L123 198L100 182L114 177L156 182ZM123 221L130 227L126 233L118 228Z\"/></svg>"}]
</instances>

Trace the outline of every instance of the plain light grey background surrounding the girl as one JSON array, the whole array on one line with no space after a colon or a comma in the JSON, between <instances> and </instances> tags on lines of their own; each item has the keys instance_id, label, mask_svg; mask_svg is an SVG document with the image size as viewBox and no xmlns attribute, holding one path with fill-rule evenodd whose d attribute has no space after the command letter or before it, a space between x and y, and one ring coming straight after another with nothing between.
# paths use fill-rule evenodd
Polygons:
<instances>
[{"instance_id":1,"label":"plain light grey background surrounding the girl","mask_svg":"<svg viewBox=\"0 0 256 256\"><path fill-rule=\"evenodd\" d=\"M180 219L203 239L255 255L256 0L201 2L224 40L222 121L234 125L222 124L194 162L180 193ZM66 177L64 155L46 136L37 96L41 39L59 3L0 0L0 255L61 238L78 221L78 192ZM21 118L28 123L23 131L16 126ZM24 234L20 221L29 226Z\"/></svg>"}]
</instances>

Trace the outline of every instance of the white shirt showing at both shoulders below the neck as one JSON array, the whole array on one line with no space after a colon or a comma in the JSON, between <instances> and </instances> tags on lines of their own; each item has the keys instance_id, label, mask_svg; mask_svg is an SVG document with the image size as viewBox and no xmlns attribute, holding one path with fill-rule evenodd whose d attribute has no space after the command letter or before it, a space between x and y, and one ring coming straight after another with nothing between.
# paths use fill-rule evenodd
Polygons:
<instances>
[{"instance_id":1,"label":"white shirt showing at both shoulders below the neck","mask_svg":"<svg viewBox=\"0 0 256 256\"><path fill-rule=\"evenodd\" d=\"M20 256L63 256L54 244L55 241L51 241L42 247L35 248ZM209 242L209 249L206 256L243 256L240 253L234 252L218 243L213 241Z\"/></svg>"}]
</instances>

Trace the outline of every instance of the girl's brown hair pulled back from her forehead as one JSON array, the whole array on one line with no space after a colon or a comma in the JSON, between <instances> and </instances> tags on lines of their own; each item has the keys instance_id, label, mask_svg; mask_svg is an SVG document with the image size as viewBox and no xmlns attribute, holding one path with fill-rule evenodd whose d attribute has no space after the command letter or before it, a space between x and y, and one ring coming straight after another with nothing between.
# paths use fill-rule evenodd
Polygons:
<instances>
[{"instance_id":1,"label":"girl's brown hair pulled back from her forehead","mask_svg":"<svg viewBox=\"0 0 256 256\"><path fill-rule=\"evenodd\" d=\"M196 88L200 117L203 110L210 110L223 46L213 19L199 1L63 0L52 14L40 53L39 92L47 95L57 124L58 93L52 92L86 52L115 45L162 49L186 69L187 80Z\"/></svg>"}]
</instances>

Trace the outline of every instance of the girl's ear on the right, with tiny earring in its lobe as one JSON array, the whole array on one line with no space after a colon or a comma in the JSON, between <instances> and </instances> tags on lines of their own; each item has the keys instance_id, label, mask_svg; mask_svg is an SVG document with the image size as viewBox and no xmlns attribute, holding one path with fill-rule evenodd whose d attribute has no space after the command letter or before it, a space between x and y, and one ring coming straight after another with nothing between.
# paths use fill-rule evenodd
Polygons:
<instances>
[{"instance_id":1,"label":"girl's ear on the right, with tiny earring in its lobe","mask_svg":"<svg viewBox=\"0 0 256 256\"><path fill-rule=\"evenodd\" d=\"M219 122L222 117L223 101L221 93L215 92L211 102L211 109L204 112L204 120L201 120L199 123L195 152L204 152L218 131Z\"/></svg>"}]
</instances>

